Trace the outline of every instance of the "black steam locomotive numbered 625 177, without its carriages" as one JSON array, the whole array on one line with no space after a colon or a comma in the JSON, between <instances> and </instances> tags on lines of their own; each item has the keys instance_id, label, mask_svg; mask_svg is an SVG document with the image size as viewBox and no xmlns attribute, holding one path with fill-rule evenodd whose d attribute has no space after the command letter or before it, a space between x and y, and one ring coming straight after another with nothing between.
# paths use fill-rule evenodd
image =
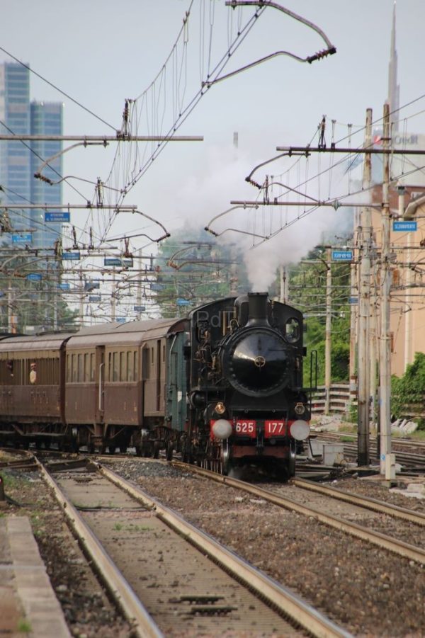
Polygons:
<instances>
[{"instance_id":1,"label":"black steam locomotive numbered 625 177, without its carriages","mask_svg":"<svg viewBox=\"0 0 425 638\"><path fill-rule=\"evenodd\" d=\"M293 476L310 433L302 319L266 293L191 313L188 456L224 474L255 462Z\"/></svg>"}]
</instances>

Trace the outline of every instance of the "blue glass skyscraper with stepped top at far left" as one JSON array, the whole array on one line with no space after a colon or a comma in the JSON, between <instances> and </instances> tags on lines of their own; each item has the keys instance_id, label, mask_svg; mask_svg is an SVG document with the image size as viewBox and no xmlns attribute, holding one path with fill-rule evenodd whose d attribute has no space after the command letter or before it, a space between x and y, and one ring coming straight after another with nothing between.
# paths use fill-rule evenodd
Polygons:
<instances>
[{"instance_id":1,"label":"blue glass skyscraper with stepped top at far left","mask_svg":"<svg viewBox=\"0 0 425 638\"><path fill-rule=\"evenodd\" d=\"M30 71L17 62L0 64L0 131L4 135L62 135L62 103L30 102ZM41 172L52 182L62 176L62 142L0 141L0 206L60 204L62 183L51 185L34 177ZM49 166L43 166L50 158ZM42 169L42 170L41 170ZM49 208L49 212L55 212ZM45 210L8 210L13 231L31 233L30 246L52 248L61 224L45 222ZM5 237L5 236L4 236ZM28 242L26 242L28 243Z\"/></svg>"}]
</instances>

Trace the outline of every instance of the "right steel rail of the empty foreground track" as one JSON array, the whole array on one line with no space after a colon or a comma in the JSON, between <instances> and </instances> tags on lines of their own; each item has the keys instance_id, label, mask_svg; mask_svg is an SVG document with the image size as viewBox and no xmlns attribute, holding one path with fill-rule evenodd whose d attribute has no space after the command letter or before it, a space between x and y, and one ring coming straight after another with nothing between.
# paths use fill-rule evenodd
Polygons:
<instances>
[{"instance_id":1,"label":"right steel rail of the empty foreground track","mask_svg":"<svg viewBox=\"0 0 425 638\"><path fill-rule=\"evenodd\" d=\"M311 634L320 638L348 638L351 636L351 634L338 627L318 610L305 603L295 593L280 585L280 583L273 581L266 574L263 574L237 556L237 554L220 545L210 535L198 530L171 508L162 505L162 503L159 503L142 489L133 486L130 482L115 474L113 470L101 465L98 468L101 474L113 484L127 491L137 501L147 504L166 525L183 535L188 542L198 547L204 554L208 554L215 563L232 574L239 582L244 583L247 588L254 591L261 599L266 599L280 613L293 618L297 625L305 627Z\"/></svg>"}]
</instances>

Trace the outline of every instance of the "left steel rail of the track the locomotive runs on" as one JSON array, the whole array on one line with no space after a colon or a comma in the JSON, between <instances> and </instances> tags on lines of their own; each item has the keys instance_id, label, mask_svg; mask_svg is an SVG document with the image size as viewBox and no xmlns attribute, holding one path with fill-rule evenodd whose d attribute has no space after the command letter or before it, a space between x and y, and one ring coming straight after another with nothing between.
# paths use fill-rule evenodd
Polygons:
<instances>
[{"instance_id":1,"label":"left steel rail of the track the locomotive runs on","mask_svg":"<svg viewBox=\"0 0 425 638\"><path fill-rule=\"evenodd\" d=\"M203 475L205 477L208 477L208 479L212 479L229 487L242 489L246 492L249 492L250 494L259 496L261 497L261 499L269 501L274 505L278 505L290 511L294 511L305 516L311 516L316 520L319 520L320 523L329 525L329 527L331 528L335 528L336 530L340 530L341 532L346 532L351 536L355 536L356 538L368 541L373 545L377 545L381 549L387 549L394 554L398 554L399 556L409 558L410 560L413 560L419 564L425 565L425 550L420 549L419 547L414 547L414 545L410 545L409 543L402 540L395 540L393 538L385 536L385 534L381 534L380 532L374 532L373 530L370 530L368 528L363 528L361 525L357 525L357 523L349 523L348 521L339 518L338 516L325 514L315 508L300 505L300 503L295 503L295 501L285 499L283 496L273 494L273 492L265 490L261 487L250 485L248 483L245 483L244 481L239 481L239 479L232 479L222 476L222 474L210 472L209 469L201 469L193 465L181 463L179 461L172 461L171 465L174 465L174 467L181 467L182 469L184 468L186 470L190 470L193 473Z\"/></svg>"}]
</instances>

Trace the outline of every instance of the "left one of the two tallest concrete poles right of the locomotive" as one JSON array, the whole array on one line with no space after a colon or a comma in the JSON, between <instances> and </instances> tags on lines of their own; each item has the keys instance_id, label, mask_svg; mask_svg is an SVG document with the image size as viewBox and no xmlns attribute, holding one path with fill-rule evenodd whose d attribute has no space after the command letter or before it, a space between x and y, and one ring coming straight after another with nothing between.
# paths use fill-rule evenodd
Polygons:
<instances>
[{"instance_id":1,"label":"left one of the two tallest concrete poles right of the locomotive","mask_svg":"<svg viewBox=\"0 0 425 638\"><path fill-rule=\"evenodd\" d=\"M365 148L372 143L372 109L366 111ZM363 164L363 190L368 193L371 183L371 156L365 153ZM370 360L369 360L369 318L370 318L370 244L371 244L370 207L361 209L361 241L359 251L359 311L358 311L358 465L369 465L369 396L370 396Z\"/></svg>"}]
</instances>

